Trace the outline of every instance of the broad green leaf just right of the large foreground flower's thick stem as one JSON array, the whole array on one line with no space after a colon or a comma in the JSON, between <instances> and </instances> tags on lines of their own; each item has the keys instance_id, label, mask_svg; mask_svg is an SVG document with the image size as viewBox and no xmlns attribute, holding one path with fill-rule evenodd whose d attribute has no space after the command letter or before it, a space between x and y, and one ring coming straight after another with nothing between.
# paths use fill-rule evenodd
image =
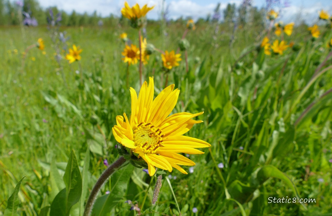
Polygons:
<instances>
[{"instance_id":1,"label":"broad green leaf just right of the large foreground flower's thick stem","mask_svg":"<svg viewBox=\"0 0 332 216\"><path fill-rule=\"evenodd\" d=\"M121 199L124 198L128 181L133 169L133 166L125 166L122 170L119 170L113 174L111 177L112 189L110 189L110 193L97 198L91 215L109 215L111 210L119 203Z\"/></svg>"}]
</instances>

